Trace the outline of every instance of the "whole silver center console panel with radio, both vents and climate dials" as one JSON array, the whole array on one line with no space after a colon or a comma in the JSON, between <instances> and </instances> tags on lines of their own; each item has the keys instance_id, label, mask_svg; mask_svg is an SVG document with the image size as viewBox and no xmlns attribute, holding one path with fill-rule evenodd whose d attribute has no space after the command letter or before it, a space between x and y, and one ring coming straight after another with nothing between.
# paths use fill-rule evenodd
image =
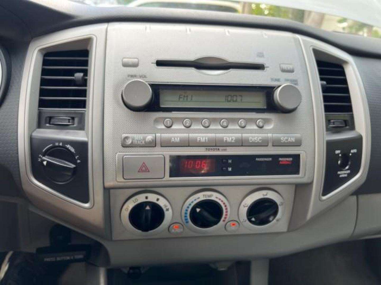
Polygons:
<instances>
[{"instance_id":1,"label":"whole silver center console panel with radio, both vents and climate dials","mask_svg":"<svg viewBox=\"0 0 381 285\"><path fill-rule=\"evenodd\" d=\"M67 78L41 85L52 80L42 74L44 60L54 64L62 60L56 52L72 58L78 49L88 52L88 73L65 76L77 85L67 86ZM340 66L340 76L328 76L346 77L339 88L348 94L330 89L319 67L332 67L317 60ZM306 225L347 198L368 170L367 102L343 51L272 30L109 23L33 40L24 75L19 155L26 195L44 214L99 240L112 264L125 264L120 245L141 250L129 262L144 264L148 255L166 258L144 253L148 243L176 244L179 258L199 260L203 252L213 260L203 250L210 236L221 258L248 256L248 248L253 258L262 247L251 247L252 239L263 245L288 236L297 249L296 231L315 234L306 244L351 233L354 222L338 222L345 215L335 211L332 224L319 220L319 229L335 228L334 235ZM80 95L69 107L77 110L46 109L51 87L75 87ZM344 105L352 111L329 113L336 101L328 97L350 98ZM354 204L340 209L353 217ZM196 250L186 251L184 241ZM232 242L239 251L221 246ZM262 256L275 245L268 246Z\"/></svg>"}]
</instances>

